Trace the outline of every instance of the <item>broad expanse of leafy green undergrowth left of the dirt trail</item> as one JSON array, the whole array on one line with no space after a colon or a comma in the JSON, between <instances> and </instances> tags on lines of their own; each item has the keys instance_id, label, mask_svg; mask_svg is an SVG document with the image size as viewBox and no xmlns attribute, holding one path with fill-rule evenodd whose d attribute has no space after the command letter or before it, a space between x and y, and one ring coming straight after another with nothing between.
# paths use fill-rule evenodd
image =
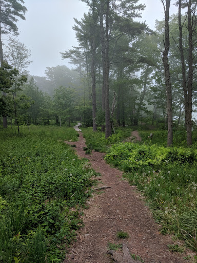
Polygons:
<instances>
[{"instance_id":1,"label":"broad expanse of leafy green undergrowth left of the dirt trail","mask_svg":"<svg viewBox=\"0 0 197 263\"><path fill-rule=\"evenodd\" d=\"M73 128L0 130L0 262L62 262L96 173L64 140Z\"/></svg>"}]
</instances>

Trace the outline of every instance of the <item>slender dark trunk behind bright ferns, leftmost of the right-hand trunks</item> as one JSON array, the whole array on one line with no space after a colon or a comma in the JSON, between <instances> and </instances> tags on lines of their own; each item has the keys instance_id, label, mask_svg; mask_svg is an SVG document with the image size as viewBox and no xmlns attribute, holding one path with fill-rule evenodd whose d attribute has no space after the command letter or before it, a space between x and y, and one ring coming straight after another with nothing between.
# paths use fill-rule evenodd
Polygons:
<instances>
[{"instance_id":1,"label":"slender dark trunk behind bright ferns, leftmost of the right-hand trunks","mask_svg":"<svg viewBox=\"0 0 197 263\"><path fill-rule=\"evenodd\" d=\"M173 130L172 130L172 91L171 91L171 80L170 80L170 67L168 64L168 52L170 47L169 39L169 10L170 0L162 0L164 11L165 11L165 40L164 40L164 51L163 51L163 64L165 69L165 82L166 82L166 95L167 95L167 116L168 116L168 140L167 146L172 146L173 142Z\"/></svg>"}]
</instances>

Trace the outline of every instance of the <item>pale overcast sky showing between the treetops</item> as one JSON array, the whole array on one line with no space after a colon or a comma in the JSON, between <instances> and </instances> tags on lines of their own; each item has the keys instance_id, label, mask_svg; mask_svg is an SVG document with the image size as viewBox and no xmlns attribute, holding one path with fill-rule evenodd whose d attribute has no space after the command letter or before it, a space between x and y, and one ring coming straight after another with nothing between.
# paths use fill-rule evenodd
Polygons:
<instances>
[{"instance_id":1,"label":"pale overcast sky showing between the treetops","mask_svg":"<svg viewBox=\"0 0 197 263\"><path fill-rule=\"evenodd\" d=\"M164 18L160 0L140 0L146 4L142 21L154 29L155 20ZM31 75L44 76L46 67L67 65L60 52L76 46L73 17L80 20L88 7L80 0L25 0L28 9L25 21L18 21L19 41L31 50L33 61L28 70ZM171 6L171 12L176 8Z\"/></svg>"}]
</instances>

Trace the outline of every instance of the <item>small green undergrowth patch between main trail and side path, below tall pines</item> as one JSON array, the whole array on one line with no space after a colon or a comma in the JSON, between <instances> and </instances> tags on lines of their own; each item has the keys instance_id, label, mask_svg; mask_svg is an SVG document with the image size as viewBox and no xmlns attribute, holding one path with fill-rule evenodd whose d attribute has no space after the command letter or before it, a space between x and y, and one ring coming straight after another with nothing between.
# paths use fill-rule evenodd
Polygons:
<instances>
[{"instance_id":1,"label":"small green undergrowth patch between main trail and side path, below tall pines","mask_svg":"<svg viewBox=\"0 0 197 263\"><path fill-rule=\"evenodd\" d=\"M83 128L83 136L86 138L86 145L88 149L94 149L97 152L105 153L113 143L123 141L125 138L131 136L131 129L117 128L115 134L105 139L105 133L92 132L92 128Z\"/></svg>"}]
</instances>

